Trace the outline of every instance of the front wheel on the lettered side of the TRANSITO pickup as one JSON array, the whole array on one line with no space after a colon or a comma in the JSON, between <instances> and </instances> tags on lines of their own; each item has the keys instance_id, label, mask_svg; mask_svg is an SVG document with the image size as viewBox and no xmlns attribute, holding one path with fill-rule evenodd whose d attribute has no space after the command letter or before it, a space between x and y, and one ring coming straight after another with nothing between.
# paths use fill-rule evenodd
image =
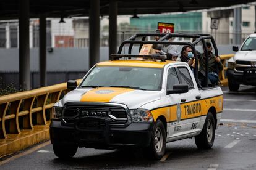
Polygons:
<instances>
[{"instance_id":1,"label":"front wheel on the lettered side of the TRANSITO pickup","mask_svg":"<svg viewBox=\"0 0 256 170\"><path fill-rule=\"evenodd\" d=\"M151 160L160 160L166 148L166 130L162 121L157 120L153 129L150 146L143 148L145 157Z\"/></svg>"}]
</instances>

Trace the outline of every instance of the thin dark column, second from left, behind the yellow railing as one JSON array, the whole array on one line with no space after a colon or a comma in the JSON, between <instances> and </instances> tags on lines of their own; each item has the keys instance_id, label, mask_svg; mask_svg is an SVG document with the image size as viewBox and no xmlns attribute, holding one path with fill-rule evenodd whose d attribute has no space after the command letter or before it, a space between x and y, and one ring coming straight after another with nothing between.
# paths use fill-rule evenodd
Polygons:
<instances>
[{"instance_id":1,"label":"thin dark column, second from left, behind the yellow railing","mask_svg":"<svg viewBox=\"0 0 256 170\"><path fill-rule=\"evenodd\" d=\"M46 86L46 15L39 18L39 76L40 87Z\"/></svg>"}]
</instances>

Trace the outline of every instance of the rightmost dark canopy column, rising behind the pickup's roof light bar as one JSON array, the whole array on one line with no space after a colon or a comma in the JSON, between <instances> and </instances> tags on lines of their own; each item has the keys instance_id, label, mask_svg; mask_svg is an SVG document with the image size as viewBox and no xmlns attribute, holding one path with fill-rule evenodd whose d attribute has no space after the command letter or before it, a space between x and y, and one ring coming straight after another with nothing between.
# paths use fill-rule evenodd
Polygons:
<instances>
[{"instance_id":1,"label":"rightmost dark canopy column, rising behind the pickup's roof light bar","mask_svg":"<svg viewBox=\"0 0 256 170\"><path fill-rule=\"evenodd\" d=\"M116 54L117 48L117 1L109 2L109 59Z\"/></svg>"}]
</instances>

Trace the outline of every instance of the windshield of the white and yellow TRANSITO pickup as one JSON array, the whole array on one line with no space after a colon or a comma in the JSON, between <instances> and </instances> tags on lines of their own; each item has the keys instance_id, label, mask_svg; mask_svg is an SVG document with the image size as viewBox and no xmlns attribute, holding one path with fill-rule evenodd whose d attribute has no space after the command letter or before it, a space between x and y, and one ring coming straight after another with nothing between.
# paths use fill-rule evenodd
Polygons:
<instances>
[{"instance_id":1,"label":"windshield of the white and yellow TRANSITO pickup","mask_svg":"<svg viewBox=\"0 0 256 170\"><path fill-rule=\"evenodd\" d=\"M161 90L163 68L95 67L82 82L83 87L130 87L150 91Z\"/></svg>"}]
</instances>

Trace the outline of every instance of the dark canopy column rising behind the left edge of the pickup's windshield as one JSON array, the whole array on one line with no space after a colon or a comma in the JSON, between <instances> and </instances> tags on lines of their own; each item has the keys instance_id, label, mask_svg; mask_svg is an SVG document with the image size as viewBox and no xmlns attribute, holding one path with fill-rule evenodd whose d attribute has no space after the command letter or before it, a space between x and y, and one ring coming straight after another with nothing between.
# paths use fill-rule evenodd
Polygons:
<instances>
[{"instance_id":1,"label":"dark canopy column rising behind the left edge of the pickup's windshield","mask_svg":"<svg viewBox=\"0 0 256 170\"><path fill-rule=\"evenodd\" d=\"M100 0L90 1L89 40L89 61L92 68L100 61Z\"/></svg>"}]
</instances>

